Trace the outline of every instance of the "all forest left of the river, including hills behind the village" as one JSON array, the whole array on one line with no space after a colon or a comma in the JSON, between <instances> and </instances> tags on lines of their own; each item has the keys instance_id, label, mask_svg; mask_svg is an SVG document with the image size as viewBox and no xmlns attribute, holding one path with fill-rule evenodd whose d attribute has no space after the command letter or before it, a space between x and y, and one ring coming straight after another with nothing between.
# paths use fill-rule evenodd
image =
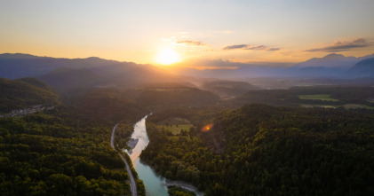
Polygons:
<instances>
[{"instance_id":1,"label":"all forest left of the river, including hills behind the village","mask_svg":"<svg viewBox=\"0 0 374 196\"><path fill-rule=\"evenodd\" d=\"M56 104L52 110L0 118L1 195L131 194L110 136L116 122L131 127L146 114L144 107L106 89L73 98L69 106L32 78L4 79L1 96L11 100L4 102L9 109ZM139 195L145 195L142 181L137 184Z\"/></svg>"}]
</instances>

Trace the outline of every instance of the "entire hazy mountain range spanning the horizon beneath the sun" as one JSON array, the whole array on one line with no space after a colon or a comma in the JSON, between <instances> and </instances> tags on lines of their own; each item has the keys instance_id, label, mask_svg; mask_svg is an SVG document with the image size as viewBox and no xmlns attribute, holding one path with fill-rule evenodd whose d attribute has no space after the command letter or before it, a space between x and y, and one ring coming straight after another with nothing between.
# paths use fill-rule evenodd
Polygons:
<instances>
[{"instance_id":1,"label":"entire hazy mountain range spanning the horizon beneath the sun","mask_svg":"<svg viewBox=\"0 0 374 196\"><path fill-rule=\"evenodd\" d=\"M223 62L223 61L222 61ZM29 54L0 54L0 77L38 78L54 88L93 86L135 87L155 82L188 82L188 77L218 78L374 78L374 54L360 58L331 53L323 58L308 59L291 67L269 67L257 64L232 63L233 69L171 67L165 70L152 65L99 59L59 59ZM201 65L202 67L204 65ZM181 77L182 76L182 77Z\"/></svg>"}]
</instances>

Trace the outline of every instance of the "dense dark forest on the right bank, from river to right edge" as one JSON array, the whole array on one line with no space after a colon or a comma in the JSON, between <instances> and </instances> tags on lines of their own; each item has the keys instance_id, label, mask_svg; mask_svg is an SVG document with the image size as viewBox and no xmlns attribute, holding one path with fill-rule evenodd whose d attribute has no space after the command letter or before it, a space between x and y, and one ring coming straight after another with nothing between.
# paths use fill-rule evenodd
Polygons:
<instances>
[{"instance_id":1,"label":"dense dark forest on the right bank, from river to right edge","mask_svg":"<svg viewBox=\"0 0 374 196\"><path fill-rule=\"evenodd\" d=\"M206 195L374 194L370 111L243 106L177 138L154 115L142 160Z\"/></svg>"}]
</instances>

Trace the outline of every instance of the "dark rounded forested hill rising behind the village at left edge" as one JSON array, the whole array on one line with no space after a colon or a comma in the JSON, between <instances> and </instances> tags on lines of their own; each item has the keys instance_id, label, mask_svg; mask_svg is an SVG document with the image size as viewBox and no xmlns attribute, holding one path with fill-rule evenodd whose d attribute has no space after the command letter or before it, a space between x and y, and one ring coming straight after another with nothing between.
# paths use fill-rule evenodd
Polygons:
<instances>
[{"instance_id":1,"label":"dark rounded forested hill rising behind the village at left edge","mask_svg":"<svg viewBox=\"0 0 374 196\"><path fill-rule=\"evenodd\" d=\"M8 113L34 105L53 106L59 102L59 96L44 82L34 78L0 78L0 112Z\"/></svg>"}]
</instances>

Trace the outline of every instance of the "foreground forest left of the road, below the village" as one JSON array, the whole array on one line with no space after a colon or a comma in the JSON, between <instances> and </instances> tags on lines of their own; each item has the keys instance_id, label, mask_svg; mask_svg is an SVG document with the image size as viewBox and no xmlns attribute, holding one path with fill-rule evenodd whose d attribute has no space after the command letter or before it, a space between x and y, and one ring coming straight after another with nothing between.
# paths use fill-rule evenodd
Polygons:
<instances>
[{"instance_id":1,"label":"foreground forest left of the road, below the village","mask_svg":"<svg viewBox=\"0 0 374 196\"><path fill-rule=\"evenodd\" d=\"M130 193L109 127L42 113L0 124L2 195Z\"/></svg>"}]
</instances>

